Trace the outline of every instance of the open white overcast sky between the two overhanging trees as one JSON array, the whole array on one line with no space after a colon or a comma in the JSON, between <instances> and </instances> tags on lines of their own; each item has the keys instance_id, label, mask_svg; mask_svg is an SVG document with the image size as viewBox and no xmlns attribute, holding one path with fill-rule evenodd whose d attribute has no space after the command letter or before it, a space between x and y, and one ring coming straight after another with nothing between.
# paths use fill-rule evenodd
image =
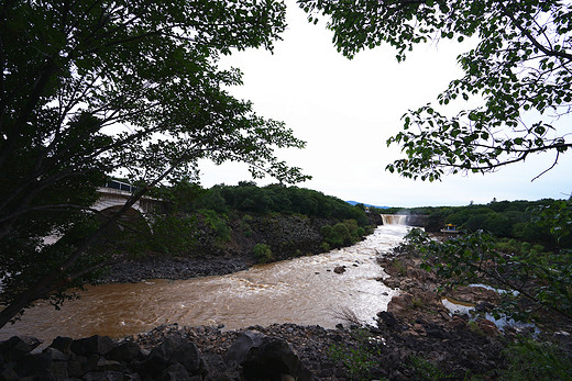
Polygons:
<instances>
[{"instance_id":1,"label":"open white overcast sky between the two overhanging trees","mask_svg":"<svg viewBox=\"0 0 572 381\"><path fill-rule=\"evenodd\" d=\"M289 3L288 29L274 54L248 51L224 58L241 68L244 85L231 92L254 103L262 116L280 120L307 142L304 150L279 152L288 164L312 176L300 187L375 205L464 205L497 200L562 199L572 192L572 153L550 167L553 156L530 157L525 164L496 173L448 176L429 183L403 179L384 170L399 157L399 148L385 141L402 128L400 116L435 101L461 70L455 57L466 46L439 43L418 46L398 64L389 46L359 54L349 60L331 43L331 32L311 25ZM568 121L570 125L570 120ZM570 130L570 128L569 128ZM244 166L201 167L204 187L249 180ZM258 184L272 182L257 181Z\"/></svg>"}]
</instances>

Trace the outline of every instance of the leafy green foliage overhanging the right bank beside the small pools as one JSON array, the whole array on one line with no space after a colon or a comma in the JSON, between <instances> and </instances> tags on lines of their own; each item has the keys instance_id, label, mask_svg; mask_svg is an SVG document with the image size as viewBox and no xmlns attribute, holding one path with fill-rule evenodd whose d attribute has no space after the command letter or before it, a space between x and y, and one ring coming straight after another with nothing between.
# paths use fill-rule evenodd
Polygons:
<instances>
[{"instance_id":1,"label":"leafy green foliage overhanging the right bank beside the small pools","mask_svg":"<svg viewBox=\"0 0 572 381\"><path fill-rule=\"evenodd\" d=\"M503 293L502 311L509 316L527 321L543 309L572 318L571 250L543 253L541 246L522 245L520 251L503 251L483 232L439 243L417 229L406 242L407 249L425 256L424 267L450 285L477 282L517 291Z\"/></svg>"}]
</instances>

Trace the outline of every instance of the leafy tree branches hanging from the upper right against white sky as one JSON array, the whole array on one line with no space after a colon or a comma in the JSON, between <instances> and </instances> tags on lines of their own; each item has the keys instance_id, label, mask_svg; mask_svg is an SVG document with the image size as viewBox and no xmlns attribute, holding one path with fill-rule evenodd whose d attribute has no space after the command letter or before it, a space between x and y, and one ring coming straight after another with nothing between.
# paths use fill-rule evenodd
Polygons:
<instances>
[{"instance_id":1,"label":"leafy tree branches hanging from the upper right against white sky","mask_svg":"<svg viewBox=\"0 0 572 381\"><path fill-rule=\"evenodd\" d=\"M557 126L572 108L570 2L298 3L309 13L310 21L316 21L320 13L329 18L333 43L349 58L383 43L397 49L400 61L419 43L440 38L461 43L466 37L479 41L476 47L459 56L464 76L439 94L439 105L428 103L403 116L404 131L387 144L400 144L407 158L389 164L389 171L432 181L446 172L494 171L537 153L553 153L556 165L560 154L572 147L566 131ZM444 105L460 99L474 100L480 105L449 116Z\"/></svg>"}]
</instances>

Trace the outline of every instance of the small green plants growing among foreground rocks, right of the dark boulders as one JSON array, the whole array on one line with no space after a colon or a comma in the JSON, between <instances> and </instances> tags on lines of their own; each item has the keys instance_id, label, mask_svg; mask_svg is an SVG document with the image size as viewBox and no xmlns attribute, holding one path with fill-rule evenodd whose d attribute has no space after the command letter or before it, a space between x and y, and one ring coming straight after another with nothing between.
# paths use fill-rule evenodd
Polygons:
<instances>
[{"instance_id":1,"label":"small green plants growing among foreground rocks, right of the dark boulders","mask_svg":"<svg viewBox=\"0 0 572 381\"><path fill-rule=\"evenodd\" d=\"M369 343L370 333L365 328L354 329L355 346L333 344L328 348L328 356L340 362L352 380L370 380L370 369L375 367L381 357L380 349Z\"/></svg>"}]
</instances>

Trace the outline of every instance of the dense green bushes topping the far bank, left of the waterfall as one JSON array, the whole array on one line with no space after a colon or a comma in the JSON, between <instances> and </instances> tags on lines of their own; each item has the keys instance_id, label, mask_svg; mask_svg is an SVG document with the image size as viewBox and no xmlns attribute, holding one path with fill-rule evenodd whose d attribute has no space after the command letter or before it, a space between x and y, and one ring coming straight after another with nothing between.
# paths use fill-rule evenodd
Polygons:
<instances>
[{"instance_id":1,"label":"dense green bushes topping the far bank, left of the waterfall","mask_svg":"<svg viewBox=\"0 0 572 381\"><path fill-rule=\"evenodd\" d=\"M199 228L213 235L218 246L223 248L224 243L233 239L233 229L235 234L253 238L256 228L280 229L279 221L286 216L299 222L319 221L317 224L322 237L322 251L352 245L371 232L362 208L304 188L278 184L260 188L253 182L240 182L239 186L220 184L202 189L198 184L183 181L156 192L157 197L169 200L170 206L166 215L157 216L160 228L156 232L153 228L152 247L166 255L193 255L193 244L197 243L196 231ZM173 226L173 229L162 227L170 221L178 221L179 226ZM178 237L172 238L175 234ZM268 249L275 253L287 251L289 256L302 255L302 250L287 232L276 234L283 240ZM187 251L183 253L182 248ZM263 261L276 259L273 255L256 257Z\"/></svg>"}]
</instances>

